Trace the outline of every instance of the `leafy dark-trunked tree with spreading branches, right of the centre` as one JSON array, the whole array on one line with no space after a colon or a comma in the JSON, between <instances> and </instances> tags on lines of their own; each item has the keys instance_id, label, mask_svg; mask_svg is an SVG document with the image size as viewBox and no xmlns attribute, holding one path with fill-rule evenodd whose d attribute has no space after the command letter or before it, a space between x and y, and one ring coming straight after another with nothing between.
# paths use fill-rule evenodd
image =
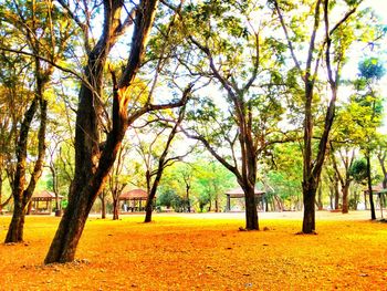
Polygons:
<instances>
[{"instance_id":1,"label":"leafy dark-trunked tree with spreading branches, right of the centre","mask_svg":"<svg viewBox=\"0 0 387 291\"><path fill-rule=\"evenodd\" d=\"M213 96L201 94L188 114L185 133L237 177L244 191L248 230L259 229L258 159L274 139L283 138L276 131L283 108L272 83L279 75L273 67L281 63L280 49L272 38L264 38L271 19L265 14L260 23L252 21L255 9L264 7L254 1L190 3L180 17L182 37L177 35L186 52L178 54L178 61L191 77L199 75L211 89L220 87L222 98L219 106Z\"/></svg>"}]
</instances>

